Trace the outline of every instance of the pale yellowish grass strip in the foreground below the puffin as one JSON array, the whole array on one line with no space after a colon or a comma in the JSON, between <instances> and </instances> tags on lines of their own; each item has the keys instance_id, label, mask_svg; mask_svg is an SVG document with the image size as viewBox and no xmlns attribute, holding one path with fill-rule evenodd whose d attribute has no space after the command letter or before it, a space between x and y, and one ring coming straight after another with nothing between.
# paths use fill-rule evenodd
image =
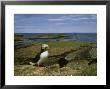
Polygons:
<instances>
[{"instance_id":1,"label":"pale yellowish grass strip in the foreground below the puffin","mask_svg":"<svg viewBox=\"0 0 110 89\"><path fill-rule=\"evenodd\" d=\"M36 67L32 65L17 65L14 67L15 76L96 76L96 64L87 65L87 60L78 60L59 68L58 64L49 67Z\"/></svg>"}]
</instances>

